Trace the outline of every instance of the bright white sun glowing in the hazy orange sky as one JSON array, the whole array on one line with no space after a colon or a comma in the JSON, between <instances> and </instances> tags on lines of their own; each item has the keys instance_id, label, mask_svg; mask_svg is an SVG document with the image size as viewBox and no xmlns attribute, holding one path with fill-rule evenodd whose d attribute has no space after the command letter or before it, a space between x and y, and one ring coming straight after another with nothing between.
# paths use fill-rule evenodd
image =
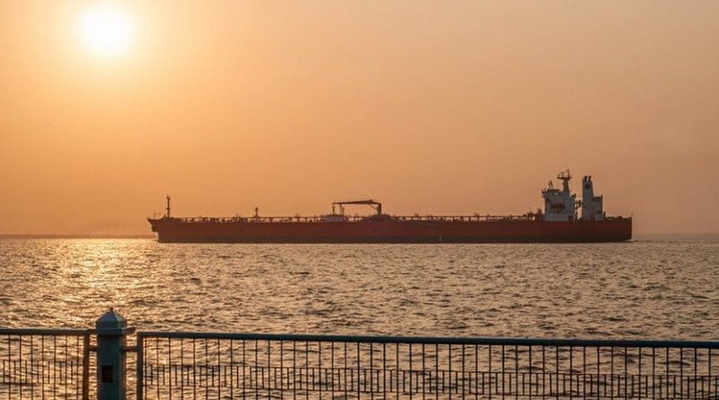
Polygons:
<instances>
[{"instance_id":1,"label":"bright white sun glowing in the hazy orange sky","mask_svg":"<svg viewBox=\"0 0 719 400\"><path fill-rule=\"evenodd\" d=\"M127 15L110 5L96 6L82 13L78 33L88 49L104 57L127 51L134 36Z\"/></svg>"}]
</instances>

